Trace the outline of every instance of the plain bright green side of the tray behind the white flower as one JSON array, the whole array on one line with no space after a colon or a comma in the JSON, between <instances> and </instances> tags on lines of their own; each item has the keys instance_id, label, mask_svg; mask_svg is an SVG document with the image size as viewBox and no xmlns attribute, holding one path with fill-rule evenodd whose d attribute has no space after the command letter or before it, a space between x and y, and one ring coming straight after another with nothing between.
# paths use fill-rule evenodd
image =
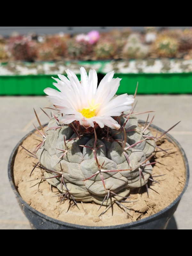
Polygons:
<instances>
[{"instance_id":1,"label":"plain bright green side of the tray behind the white flower","mask_svg":"<svg viewBox=\"0 0 192 256\"><path fill-rule=\"evenodd\" d=\"M52 85L51 76L27 75L0 76L0 95L44 95L46 87ZM80 80L80 75L77 75ZM175 74L115 74L122 78L117 94L133 94L138 85L138 94L192 93L192 73Z\"/></svg>"}]
</instances>

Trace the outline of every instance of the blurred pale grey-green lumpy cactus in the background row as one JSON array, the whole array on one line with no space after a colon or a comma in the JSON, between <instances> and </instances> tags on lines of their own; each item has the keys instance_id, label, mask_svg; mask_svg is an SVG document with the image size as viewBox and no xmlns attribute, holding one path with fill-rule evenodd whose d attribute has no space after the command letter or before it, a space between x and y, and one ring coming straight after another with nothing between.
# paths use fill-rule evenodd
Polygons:
<instances>
[{"instance_id":1,"label":"blurred pale grey-green lumpy cactus in the background row","mask_svg":"<svg viewBox=\"0 0 192 256\"><path fill-rule=\"evenodd\" d=\"M122 50L122 59L143 59L148 55L148 46L141 43L139 34L128 37Z\"/></svg>"}]
</instances>

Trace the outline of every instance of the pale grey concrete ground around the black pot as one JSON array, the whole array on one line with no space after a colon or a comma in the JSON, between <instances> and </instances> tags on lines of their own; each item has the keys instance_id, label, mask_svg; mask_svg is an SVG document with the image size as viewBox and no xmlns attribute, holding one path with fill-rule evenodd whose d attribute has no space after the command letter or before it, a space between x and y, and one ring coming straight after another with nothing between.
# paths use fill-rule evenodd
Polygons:
<instances>
[{"instance_id":1,"label":"pale grey concrete ground around the black pot","mask_svg":"<svg viewBox=\"0 0 192 256\"><path fill-rule=\"evenodd\" d=\"M181 120L169 133L184 149L189 169L192 171L192 95L138 95L136 111L154 110L153 124L164 130ZM31 229L28 219L17 203L9 184L7 165L12 149L30 130L37 125L33 107L42 122L48 121L40 110L51 106L45 97L0 97L0 229ZM140 115L146 119L147 114ZM150 114L153 116L153 113ZM170 220L168 229L192 229L192 179L181 198L180 204Z\"/></svg>"}]
</instances>

